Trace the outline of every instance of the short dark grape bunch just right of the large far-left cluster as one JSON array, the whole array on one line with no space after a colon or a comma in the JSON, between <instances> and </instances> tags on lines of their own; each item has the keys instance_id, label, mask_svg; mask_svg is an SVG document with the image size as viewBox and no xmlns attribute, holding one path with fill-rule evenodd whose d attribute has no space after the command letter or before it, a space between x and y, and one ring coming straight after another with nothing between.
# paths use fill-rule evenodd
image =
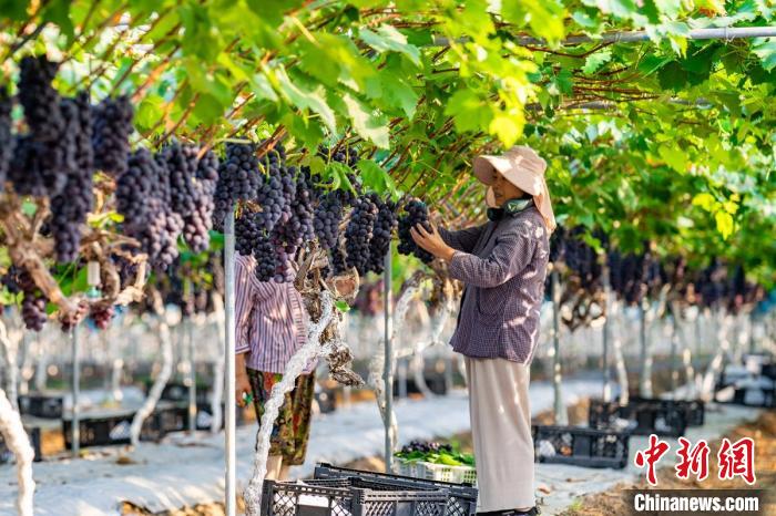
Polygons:
<instances>
[{"instance_id":1,"label":"short dark grape bunch just right of the large far-left cluster","mask_svg":"<svg viewBox=\"0 0 776 516\"><path fill-rule=\"evenodd\" d=\"M126 95L105 99L94 107L94 164L114 177L126 172L134 109Z\"/></svg>"}]
</instances>

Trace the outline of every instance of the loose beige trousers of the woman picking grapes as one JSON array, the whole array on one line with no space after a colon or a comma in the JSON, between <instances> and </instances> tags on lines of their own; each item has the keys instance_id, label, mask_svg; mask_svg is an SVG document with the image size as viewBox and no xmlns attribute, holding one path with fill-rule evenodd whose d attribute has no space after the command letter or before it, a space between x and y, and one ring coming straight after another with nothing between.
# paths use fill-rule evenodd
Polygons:
<instances>
[{"instance_id":1,"label":"loose beige trousers of the woman picking grapes","mask_svg":"<svg viewBox=\"0 0 776 516\"><path fill-rule=\"evenodd\" d=\"M530 367L466 359L479 512L533 507Z\"/></svg>"}]
</instances>

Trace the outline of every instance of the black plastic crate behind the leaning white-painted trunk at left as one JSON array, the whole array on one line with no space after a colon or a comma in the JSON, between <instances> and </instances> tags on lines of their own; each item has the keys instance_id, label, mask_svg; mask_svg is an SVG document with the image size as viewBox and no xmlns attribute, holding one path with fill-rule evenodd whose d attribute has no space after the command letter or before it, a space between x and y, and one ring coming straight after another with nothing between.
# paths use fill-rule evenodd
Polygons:
<instances>
[{"instance_id":1,"label":"black plastic crate behind the leaning white-painted trunk at left","mask_svg":"<svg viewBox=\"0 0 776 516\"><path fill-rule=\"evenodd\" d=\"M125 412L115 415L81 415L79 417L81 447L130 444L130 429L134 414L134 412ZM146 417L140 431L141 441L159 441L164 437L165 432L157 424L155 414ZM63 419L62 433L65 450L72 448L71 427L72 417Z\"/></svg>"}]
</instances>

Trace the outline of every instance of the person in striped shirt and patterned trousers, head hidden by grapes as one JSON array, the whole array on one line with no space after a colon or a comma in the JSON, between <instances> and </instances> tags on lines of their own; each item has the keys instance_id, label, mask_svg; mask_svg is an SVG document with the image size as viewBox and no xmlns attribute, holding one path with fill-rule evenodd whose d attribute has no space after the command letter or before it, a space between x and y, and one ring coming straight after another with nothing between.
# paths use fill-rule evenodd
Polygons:
<instances>
[{"instance_id":1,"label":"person in striped shirt and patterned trousers, head hidden by grapes","mask_svg":"<svg viewBox=\"0 0 776 516\"><path fill-rule=\"evenodd\" d=\"M307 339L307 311L293 283L259 281L254 257L238 256L236 290L236 398L253 392L261 421L272 388L283 379L286 364ZM316 361L307 365L286 394L273 427L267 478L285 479L290 466L305 462L315 391Z\"/></svg>"}]
</instances>

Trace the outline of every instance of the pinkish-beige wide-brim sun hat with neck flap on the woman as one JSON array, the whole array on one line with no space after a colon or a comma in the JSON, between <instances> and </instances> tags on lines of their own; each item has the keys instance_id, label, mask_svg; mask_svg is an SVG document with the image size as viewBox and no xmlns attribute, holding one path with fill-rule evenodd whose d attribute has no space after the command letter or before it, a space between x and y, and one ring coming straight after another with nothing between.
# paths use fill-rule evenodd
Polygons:
<instances>
[{"instance_id":1,"label":"pinkish-beige wide-brim sun hat with neck flap on the woman","mask_svg":"<svg viewBox=\"0 0 776 516\"><path fill-rule=\"evenodd\" d=\"M547 187L544 172L547 162L531 147L515 145L500 156L477 156L473 163L477 178L490 186L493 183L493 171L501 174L508 182L533 196L537 209L542 214L550 231L555 229L555 216L552 211L550 190ZM488 206L496 207L493 188L488 188L486 195Z\"/></svg>"}]
</instances>

